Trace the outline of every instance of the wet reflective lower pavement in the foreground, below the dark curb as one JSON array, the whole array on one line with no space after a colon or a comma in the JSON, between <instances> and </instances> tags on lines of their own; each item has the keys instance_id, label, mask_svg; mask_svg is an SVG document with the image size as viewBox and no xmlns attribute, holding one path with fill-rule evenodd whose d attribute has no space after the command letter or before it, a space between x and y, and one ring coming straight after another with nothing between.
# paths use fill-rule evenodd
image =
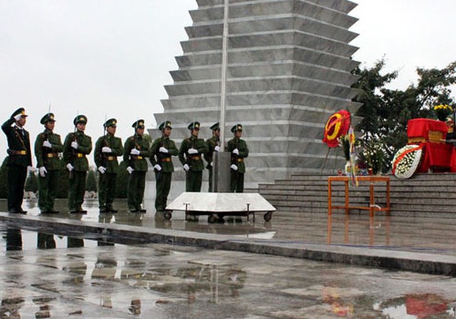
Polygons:
<instances>
[{"instance_id":1,"label":"wet reflective lower pavement in the foreground, below the dark curb","mask_svg":"<svg viewBox=\"0 0 456 319\"><path fill-rule=\"evenodd\" d=\"M165 244L58 248L65 238L35 237L48 249L0 258L1 318L455 317L456 278L446 276Z\"/></svg>"}]
</instances>

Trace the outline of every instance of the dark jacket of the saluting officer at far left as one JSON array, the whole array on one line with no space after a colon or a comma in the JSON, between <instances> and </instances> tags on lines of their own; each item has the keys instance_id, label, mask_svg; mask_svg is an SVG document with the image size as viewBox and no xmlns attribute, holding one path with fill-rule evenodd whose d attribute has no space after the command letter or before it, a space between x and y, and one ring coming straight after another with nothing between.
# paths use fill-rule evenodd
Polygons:
<instances>
[{"instance_id":1,"label":"dark jacket of the saluting officer at far left","mask_svg":"<svg viewBox=\"0 0 456 319\"><path fill-rule=\"evenodd\" d=\"M1 126L8 139L8 164L32 166L30 135L24 128L12 126L14 123L14 117L10 117ZM21 151L21 154L18 154L17 151Z\"/></svg>"}]
</instances>

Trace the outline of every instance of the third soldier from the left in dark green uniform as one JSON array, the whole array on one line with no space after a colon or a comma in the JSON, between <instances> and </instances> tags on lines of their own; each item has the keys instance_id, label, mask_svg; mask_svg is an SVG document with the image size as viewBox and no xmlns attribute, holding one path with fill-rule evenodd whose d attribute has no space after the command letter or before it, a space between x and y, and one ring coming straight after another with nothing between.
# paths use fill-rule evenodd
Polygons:
<instances>
[{"instance_id":1,"label":"third soldier from the left in dark green uniform","mask_svg":"<svg viewBox=\"0 0 456 319\"><path fill-rule=\"evenodd\" d=\"M84 193L86 192L86 176L88 161L86 155L92 151L92 139L84 134L87 117L77 115L73 120L75 131L68 133L64 142L64 162L70 172L70 187L68 189L68 209L70 213L87 213L82 209Z\"/></svg>"}]
</instances>

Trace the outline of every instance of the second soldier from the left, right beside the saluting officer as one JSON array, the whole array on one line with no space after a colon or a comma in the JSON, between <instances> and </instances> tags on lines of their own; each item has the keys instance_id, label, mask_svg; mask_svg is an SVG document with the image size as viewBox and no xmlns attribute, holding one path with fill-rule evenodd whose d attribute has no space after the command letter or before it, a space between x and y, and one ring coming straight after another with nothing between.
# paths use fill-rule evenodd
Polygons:
<instances>
[{"instance_id":1,"label":"second soldier from the left, right beside the saluting officer","mask_svg":"<svg viewBox=\"0 0 456 319\"><path fill-rule=\"evenodd\" d=\"M35 156L39 169L38 206L41 213L59 213L54 210L55 197L59 189L61 162L59 153L64 151L60 135L54 133L55 117L48 113L41 118L44 132L39 133L35 140Z\"/></svg>"}]
</instances>

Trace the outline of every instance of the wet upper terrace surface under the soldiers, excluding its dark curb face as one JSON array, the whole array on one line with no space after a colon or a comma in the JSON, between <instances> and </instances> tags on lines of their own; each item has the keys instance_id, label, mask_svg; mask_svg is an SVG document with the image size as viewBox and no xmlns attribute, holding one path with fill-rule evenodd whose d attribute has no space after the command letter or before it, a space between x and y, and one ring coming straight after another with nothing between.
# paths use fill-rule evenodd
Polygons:
<instances>
[{"instance_id":1,"label":"wet upper terrace surface under the soldiers, excluding its dark curb face","mask_svg":"<svg viewBox=\"0 0 456 319\"><path fill-rule=\"evenodd\" d=\"M245 218L225 217L225 223L209 224L207 216L200 216L196 221L186 221L183 212L173 212L171 220L164 220L156 215L153 202L146 202L146 214L129 213L125 200L117 200L118 213L99 213L97 201L86 200L86 215L67 213L66 200L57 200L57 209L61 213L53 218L67 218L91 222L128 224L146 228L160 228L194 231L198 233L216 233L238 235L240 237L287 240L310 244L348 245L354 247L381 247L404 251L426 253L444 253L456 255L456 218L451 215L395 215L377 213L372 217L368 213L326 214L312 212L274 213L271 222L264 222L258 214L256 222L247 222ZM0 211L6 209L6 202L0 201ZM29 215L39 215L36 201L27 202Z\"/></svg>"}]
</instances>

